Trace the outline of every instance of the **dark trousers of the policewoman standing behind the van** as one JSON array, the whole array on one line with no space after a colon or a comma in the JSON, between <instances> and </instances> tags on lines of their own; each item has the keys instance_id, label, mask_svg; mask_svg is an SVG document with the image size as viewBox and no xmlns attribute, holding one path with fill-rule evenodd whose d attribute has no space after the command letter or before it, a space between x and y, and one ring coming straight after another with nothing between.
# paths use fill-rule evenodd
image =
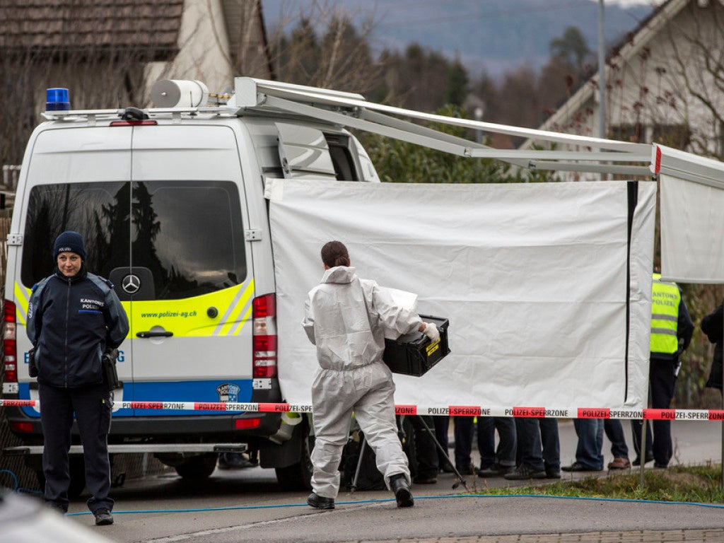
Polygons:
<instances>
[{"instance_id":1,"label":"dark trousers of the policewoman standing behind the van","mask_svg":"<svg viewBox=\"0 0 724 543\"><path fill-rule=\"evenodd\" d=\"M88 509L113 509L108 493L111 466L108 458L108 432L111 428L110 392L103 384L82 388L58 388L38 385L43 424L43 473L46 477L45 500L67 510L70 468L70 429L73 413L83 443L85 486L90 491Z\"/></svg>"}]
</instances>

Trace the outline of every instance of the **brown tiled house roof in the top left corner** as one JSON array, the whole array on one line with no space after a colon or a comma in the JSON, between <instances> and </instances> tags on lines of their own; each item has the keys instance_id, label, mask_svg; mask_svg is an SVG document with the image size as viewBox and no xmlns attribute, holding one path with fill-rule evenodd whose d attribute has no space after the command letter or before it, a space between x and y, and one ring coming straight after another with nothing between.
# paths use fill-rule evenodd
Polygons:
<instances>
[{"instance_id":1,"label":"brown tiled house roof in the top left corner","mask_svg":"<svg viewBox=\"0 0 724 543\"><path fill-rule=\"evenodd\" d=\"M172 59L183 0L3 0L0 56Z\"/></svg>"}]
</instances>

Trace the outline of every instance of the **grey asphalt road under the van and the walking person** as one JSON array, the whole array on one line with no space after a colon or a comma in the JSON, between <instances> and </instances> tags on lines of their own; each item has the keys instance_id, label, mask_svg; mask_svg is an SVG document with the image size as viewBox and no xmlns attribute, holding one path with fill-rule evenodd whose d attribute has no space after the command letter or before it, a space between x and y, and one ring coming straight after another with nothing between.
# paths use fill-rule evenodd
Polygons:
<instances>
[{"instance_id":1,"label":"grey asphalt road under the van and the walking person","mask_svg":"<svg viewBox=\"0 0 724 543\"><path fill-rule=\"evenodd\" d=\"M719 463L721 428L717 422L675 422L674 462ZM573 460L576 446L571 421L561 421L560 437L561 460L565 464ZM610 460L608 447L605 442L606 461ZM573 477L586 475L592 473L575 473ZM474 476L466 481L469 489L478 491L526 484ZM451 474L443 473L437 484L416 486L416 505L411 509L397 509L387 491L342 491L337 508L321 512L306 505L306 493L279 489L272 470L216 470L208 480L195 483L175 475L153 476L114 489L116 523L92 529L123 543L513 541L487 536L518 536L518 540L536 542L681 541L684 537L691 539L686 534L691 536L692 530L709 534L708 538L699 536L699 541L724 542L721 507L551 497L471 497L463 495L463 487L452 489L453 482ZM83 499L79 499L72 503L70 513L75 514L68 518L92 526L93 517L86 511ZM639 534L642 531L664 535L645 539ZM560 534L578 534L578 539L562 539ZM594 534L594 539L581 539L582 534ZM611 534L620 537L614 539ZM638 539L631 534L639 534ZM522 536L536 539L520 539ZM631 539L626 539L628 536ZM554 537L557 539L550 539Z\"/></svg>"}]
</instances>

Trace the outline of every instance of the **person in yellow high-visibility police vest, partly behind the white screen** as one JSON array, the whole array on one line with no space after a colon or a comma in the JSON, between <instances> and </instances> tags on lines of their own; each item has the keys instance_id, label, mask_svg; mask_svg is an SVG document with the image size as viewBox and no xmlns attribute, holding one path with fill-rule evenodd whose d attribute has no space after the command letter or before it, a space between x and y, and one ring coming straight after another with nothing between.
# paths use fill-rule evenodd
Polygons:
<instances>
[{"instance_id":1,"label":"person in yellow high-visibility police vest, partly behind the white screen","mask_svg":"<svg viewBox=\"0 0 724 543\"><path fill-rule=\"evenodd\" d=\"M649 364L649 392L654 409L668 409L674 397L678 374L679 355L689 347L694 323L681 296L681 288L674 282L662 281L654 268L651 295L651 353ZM673 455L671 422L653 421L652 436L646 425L646 452L644 463L654 460L654 468L665 468ZM641 464L641 421L631 421L634 466Z\"/></svg>"}]
</instances>

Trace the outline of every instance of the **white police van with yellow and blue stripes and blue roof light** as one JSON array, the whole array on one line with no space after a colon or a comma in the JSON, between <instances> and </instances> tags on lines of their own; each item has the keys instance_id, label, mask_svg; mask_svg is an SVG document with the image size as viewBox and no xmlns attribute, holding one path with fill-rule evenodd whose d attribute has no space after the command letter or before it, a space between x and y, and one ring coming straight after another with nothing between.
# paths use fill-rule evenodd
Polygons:
<instances>
[{"instance_id":1,"label":"white police van with yellow and blue stripes and blue roof light","mask_svg":"<svg viewBox=\"0 0 724 543\"><path fill-rule=\"evenodd\" d=\"M306 418L150 404L282 402L277 340L284 338L276 334L264 181L379 181L350 132L256 106L260 84L237 78L237 94L251 90L247 106L234 97L207 106L203 83L161 81L151 93L158 107L146 110L72 111L67 91L49 90L48 121L28 141L8 236L3 397L38 399L27 363L30 291L54 271L56 235L77 230L88 269L114 283L130 320L109 450L153 452L180 475L203 477L219 452L248 448L259 451L262 467L276 468L283 486L304 488ZM41 476L39 415L34 404L7 408L10 429L25 443L16 452L29 452ZM72 452L79 443L75 432ZM83 489L80 458L72 463L75 494Z\"/></svg>"}]
</instances>

